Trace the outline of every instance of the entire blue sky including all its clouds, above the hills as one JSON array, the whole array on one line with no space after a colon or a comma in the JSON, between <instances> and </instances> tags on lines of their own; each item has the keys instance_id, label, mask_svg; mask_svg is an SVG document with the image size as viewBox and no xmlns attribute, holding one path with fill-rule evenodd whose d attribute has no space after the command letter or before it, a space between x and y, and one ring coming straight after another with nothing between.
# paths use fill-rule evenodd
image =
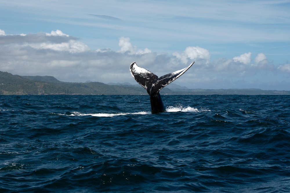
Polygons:
<instances>
[{"instance_id":1,"label":"entire blue sky including all its clouds, above the hills","mask_svg":"<svg viewBox=\"0 0 290 193\"><path fill-rule=\"evenodd\" d=\"M0 0L0 71L190 89L290 90L290 0ZM1 81L1 80L0 80Z\"/></svg>"}]
</instances>

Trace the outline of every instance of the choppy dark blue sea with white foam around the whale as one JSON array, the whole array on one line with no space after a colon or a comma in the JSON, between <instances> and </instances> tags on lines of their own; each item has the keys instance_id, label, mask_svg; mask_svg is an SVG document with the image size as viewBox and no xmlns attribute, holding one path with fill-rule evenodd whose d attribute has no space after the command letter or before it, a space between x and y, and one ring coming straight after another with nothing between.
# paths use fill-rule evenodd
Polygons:
<instances>
[{"instance_id":1,"label":"choppy dark blue sea with white foam around the whale","mask_svg":"<svg viewBox=\"0 0 290 193\"><path fill-rule=\"evenodd\" d=\"M289 95L0 96L0 192L290 192Z\"/></svg>"}]
</instances>

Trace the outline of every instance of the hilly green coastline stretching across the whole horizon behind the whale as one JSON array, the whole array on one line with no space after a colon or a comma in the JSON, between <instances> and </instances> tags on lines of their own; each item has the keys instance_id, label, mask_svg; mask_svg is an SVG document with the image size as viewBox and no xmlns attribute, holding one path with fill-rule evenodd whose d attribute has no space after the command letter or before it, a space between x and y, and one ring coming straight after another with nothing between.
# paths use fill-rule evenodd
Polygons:
<instances>
[{"instance_id":1,"label":"hilly green coastline stretching across the whole horizon behind the whale","mask_svg":"<svg viewBox=\"0 0 290 193\"><path fill-rule=\"evenodd\" d=\"M146 90L130 83L61 82L53 76L19 76L0 71L0 95L144 95ZM188 89L177 84L162 95L290 95L290 91L261 89Z\"/></svg>"}]
</instances>

